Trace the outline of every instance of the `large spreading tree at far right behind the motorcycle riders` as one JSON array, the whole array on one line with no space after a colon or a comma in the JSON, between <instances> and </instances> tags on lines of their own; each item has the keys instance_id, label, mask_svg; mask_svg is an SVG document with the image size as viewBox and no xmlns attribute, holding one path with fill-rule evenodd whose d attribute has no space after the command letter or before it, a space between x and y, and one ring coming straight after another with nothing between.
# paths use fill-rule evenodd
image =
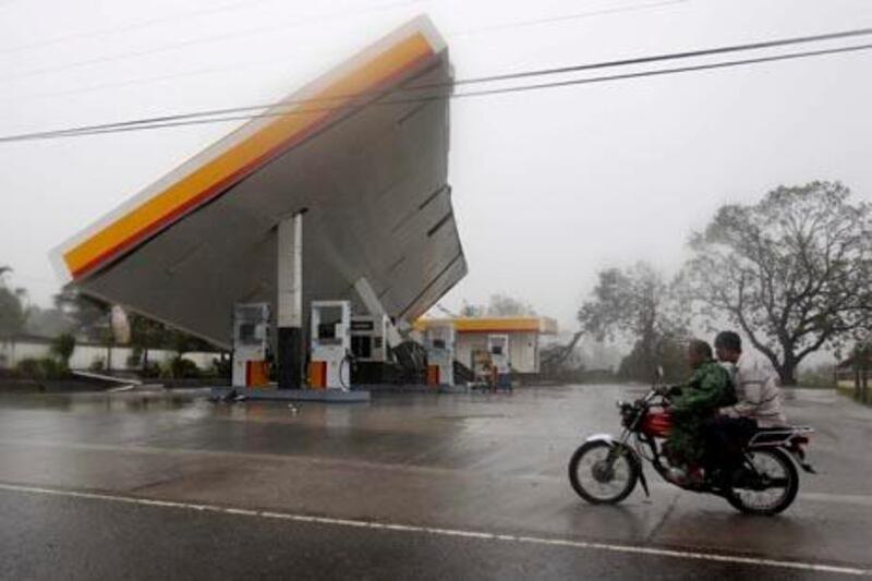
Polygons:
<instances>
[{"instance_id":1,"label":"large spreading tree at far right behind the motorcycle riders","mask_svg":"<svg viewBox=\"0 0 872 581\"><path fill-rule=\"evenodd\" d=\"M691 237L690 296L710 320L737 325L784 385L822 348L872 322L872 215L838 182L780 186L717 210Z\"/></svg>"}]
</instances>

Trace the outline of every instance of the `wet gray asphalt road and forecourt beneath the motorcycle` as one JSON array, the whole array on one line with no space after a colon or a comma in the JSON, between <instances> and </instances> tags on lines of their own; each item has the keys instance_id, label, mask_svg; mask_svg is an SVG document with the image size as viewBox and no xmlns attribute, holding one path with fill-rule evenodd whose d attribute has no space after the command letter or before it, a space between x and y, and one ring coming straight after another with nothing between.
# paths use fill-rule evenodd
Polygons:
<instances>
[{"instance_id":1,"label":"wet gray asphalt road and forecourt beneath the motorcycle","mask_svg":"<svg viewBox=\"0 0 872 581\"><path fill-rule=\"evenodd\" d=\"M637 391L384 395L296 411L197 391L0 397L0 578L845 578L760 559L872 569L872 410L794 394L790 419L819 429L821 474L803 474L776 518L662 482L651 499L585 505L566 462L585 434L614 432L614 401Z\"/></svg>"}]
</instances>

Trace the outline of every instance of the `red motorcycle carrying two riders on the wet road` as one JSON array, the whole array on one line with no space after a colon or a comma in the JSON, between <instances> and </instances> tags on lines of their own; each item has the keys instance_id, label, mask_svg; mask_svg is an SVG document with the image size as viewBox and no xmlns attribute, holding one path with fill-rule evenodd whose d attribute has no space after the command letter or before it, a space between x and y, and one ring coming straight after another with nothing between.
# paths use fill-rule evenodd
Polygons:
<instances>
[{"instance_id":1,"label":"red motorcycle carrying two riders on the wet road","mask_svg":"<svg viewBox=\"0 0 872 581\"><path fill-rule=\"evenodd\" d=\"M741 467L724 477L716 470L699 470L698 479L676 479L664 444L671 429L668 394L653 386L645 397L633 402L619 401L623 432L615 438L595 434L582 444L569 462L572 488L584 500L618 504L641 483L651 496L642 460L667 482L687 491L725 498L734 508L752 515L782 512L799 492L797 465L808 473L804 447L814 432L808 426L756 428L750 439L739 443Z\"/></svg>"}]
</instances>

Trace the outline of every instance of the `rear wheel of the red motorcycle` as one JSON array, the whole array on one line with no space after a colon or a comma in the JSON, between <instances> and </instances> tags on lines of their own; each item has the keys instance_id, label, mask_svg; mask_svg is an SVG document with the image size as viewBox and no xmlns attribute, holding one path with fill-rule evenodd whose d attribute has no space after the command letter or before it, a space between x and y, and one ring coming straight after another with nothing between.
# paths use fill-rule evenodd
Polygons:
<instances>
[{"instance_id":1,"label":"rear wheel of the red motorcycle","mask_svg":"<svg viewBox=\"0 0 872 581\"><path fill-rule=\"evenodd\" d=\"M751 450L749 456L761 477L750 476L748 483L734 487L727 501L749 515L771 517L787 509L799 492L799 472L794 461L777 448Z\"/></svg>"}]
</instances>

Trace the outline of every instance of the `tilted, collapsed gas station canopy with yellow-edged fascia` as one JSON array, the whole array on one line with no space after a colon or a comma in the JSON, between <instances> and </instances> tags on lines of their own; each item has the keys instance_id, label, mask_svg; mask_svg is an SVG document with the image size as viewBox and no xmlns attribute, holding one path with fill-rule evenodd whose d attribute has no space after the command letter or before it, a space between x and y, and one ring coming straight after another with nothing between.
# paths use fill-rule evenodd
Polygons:
<instances>
[{"instance_id":1,"label":"tilted, collapsed gas station canopy with yellow-edged fascia","mask_svg":"<svg viewBox=\"0 0 872 581\"><path fill-rule=\"evenodd\" d=\"M277 225L306 209L305 304L362 307L354 285L365 278L387 314L412 322L467 274L447 183L448 99L437 96L451 82L445 43L415 19L56 249L52 262L86 294L229 347L233 304L275 303Z\"/></svg>"}]
</instances>

